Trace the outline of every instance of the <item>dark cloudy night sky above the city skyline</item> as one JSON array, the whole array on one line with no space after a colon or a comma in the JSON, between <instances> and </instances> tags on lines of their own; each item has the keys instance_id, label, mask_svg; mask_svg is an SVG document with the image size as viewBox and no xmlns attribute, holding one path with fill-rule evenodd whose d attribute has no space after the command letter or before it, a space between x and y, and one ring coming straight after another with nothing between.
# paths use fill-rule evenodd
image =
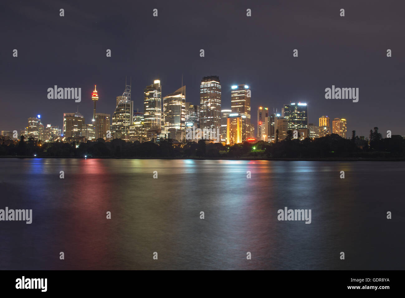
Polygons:
<instances>
[{"instance_id":1,"label":"dark cloudy night sky above the city skyline","mask_svg":"<svg viewBox=\"0 0 405 298\"><path fill-rule=\"evenodd\" d=\"M103 4L105 2L105 4ZM48 99L47 88L82 88L79 111L91 122L112 114L125 76L132 76L134 108L143 89L160 77L162 95L187 86L186 101L200 103L203 76L219 75L222 108L230 87L248 84L252 119L257 107L307 102L309 122L322 115L347 119L369 135L405 135L403 124L405 20L403 1L7 1L0 12L0 130L20 129L27 118L62 126L72 99ZM65 16L59 16L59 9ZM153 9L158 17L153 17ZM252 17L246 9L252 9ZM345 17L339 10L345 9ZM18 50L14 58L13 49ZM106 57L111 49L112 57ZM205 57L199 56L200 49ZM298 58L292 56L298 49ZM386 50L392 57L386 57ZM359 88L359 101L325 99L325 88Z\"/></svg>"}]
</instances>

